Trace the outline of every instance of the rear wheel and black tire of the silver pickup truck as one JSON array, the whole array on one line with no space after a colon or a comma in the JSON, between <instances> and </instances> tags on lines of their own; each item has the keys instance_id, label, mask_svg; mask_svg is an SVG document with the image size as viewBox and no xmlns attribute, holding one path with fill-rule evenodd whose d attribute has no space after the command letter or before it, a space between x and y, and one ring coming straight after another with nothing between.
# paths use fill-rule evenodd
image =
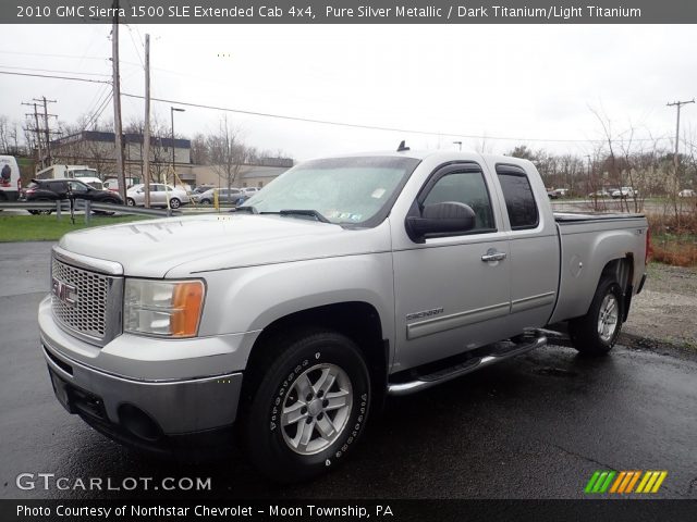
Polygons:
<instances>
[{"instance_id":1,"label":"rear wheel and black tire of the silver pickup truck","mask_svg":"<svg viewBox=\"0 0 697 522\"><path fill-rule=\"evenodd\" d=\"M609 306L614 307L609 311ZM601 333L601 314L606 330ZM620 284L612 277L603 277L598 284L588 313L568 322L568 334L574 348L585 356L603 356L617 340L624 316L624 299Z\"/></svg>"}]
</instances>

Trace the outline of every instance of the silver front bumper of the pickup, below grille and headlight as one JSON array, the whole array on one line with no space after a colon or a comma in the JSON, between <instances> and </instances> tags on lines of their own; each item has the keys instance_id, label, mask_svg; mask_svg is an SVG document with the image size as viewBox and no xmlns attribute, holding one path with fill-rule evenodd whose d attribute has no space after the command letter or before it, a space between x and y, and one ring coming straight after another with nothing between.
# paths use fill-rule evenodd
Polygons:
<instances>
[{"instance_id":1,"label":"silver front bumper of the pickup, below grille and headlight","mask_svg":"<svg viewBox=\"0 0 697 522\"><path fill-rule=\"evenodd\" d=\"M90 362L97 362L99 357L81 353L85 344L58 327L47 304L44 302L39 310L40 337L56 396L68 411L78 414L100 432L126 443L133 439L143 445L158 445L173 436L218 431L234 422L242 372L192 378L172 377L171 373L168 378L161 378L158 372L152 372L152 377L144 378L94 368ZM91 350L103 348L91 347ZM75 357L68 355L73 352ZM188 365L191 375L200 375L196 360L216 359L216 356L199 356L179 361L175 369ZM189 364L185 364L187 361ZM172 361L142 362L143 368L151 370ZM138 365L137 360L131 360L123 366Z\"/></svg>"}]
</instances>

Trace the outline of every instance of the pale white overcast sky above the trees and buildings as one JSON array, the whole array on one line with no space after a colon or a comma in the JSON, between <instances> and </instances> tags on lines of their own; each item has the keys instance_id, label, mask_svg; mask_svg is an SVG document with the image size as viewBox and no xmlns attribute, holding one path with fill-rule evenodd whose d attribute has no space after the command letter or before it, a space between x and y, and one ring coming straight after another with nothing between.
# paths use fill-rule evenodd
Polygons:
<instances>
[{"instance_id":1,"label":"pale white overcast sky above the trees and buildings","mask_svg":"<svg viewBox=\"0 0 697 522\"><path fill-rule=\"evenodd\" d=\"M110 26L0 27L0 71L109 79ZM591 108L609 116L613 133L635 127L640 138L667 137L669 147L675 110L665 103L697 96L697 30L689 25L122 26L123 92L144 92L146 33L154 97L435 133L228 114L248 145L298 160L393 149L401 139L419 149L462 140L463 149L484 144L491 152L526 142L586 154L587 140L602 138ZM17 121L30 109L21 102L46 96L58 100L50 112L73 123L110 89L8 75L0 82L0 114ZM124 123L143 119L143 108L124 98ZM169 129L170 104L155 102L152 112ZM112 114L108 103L101 121ZM222 114L187 107L175 114L176 133L213 132ZM682 122L697 134L697 105L683 109Z\"/></svg>"}]
</instances>

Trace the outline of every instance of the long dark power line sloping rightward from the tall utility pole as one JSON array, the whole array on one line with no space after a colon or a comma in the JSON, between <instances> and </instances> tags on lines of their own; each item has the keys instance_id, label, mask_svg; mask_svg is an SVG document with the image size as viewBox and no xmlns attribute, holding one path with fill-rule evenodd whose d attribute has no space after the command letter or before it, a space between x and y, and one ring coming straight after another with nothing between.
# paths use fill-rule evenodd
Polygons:
<instances>
[{"instance_id":1,"label":"long dark power line sloping rightward from the tall utility pole","mask_svg":"<svg viewBox=\"0 0 697 522\"><path fill-rule=\"evenodd\" d=\"M125 96L129 98L138 98L142 100L145 99L144 96L132 95L129 92L121 92L121 96ZM538 141L538 142L559 142L559 144L604 142L604 139L521 138L521 137L508 137L508 136L467 135L467 134L449 133L449 132L444 133L444 132L433 132L433 130L416 130L413 128L384 127L379 125L364 125L358 123L346 123L346 122L337 122L337 121L330 121L330 120L316 120L310 117L289 116L285 114L272 114L269 112L245 111L243 109L231 109L227 107L208 105L204 103L170 100L166 98L150 98L150 99L152 101L159 101L161 103L195 107L198 109L210 109L213 111L233 112L236 114L247 114L252 116L273 117L277 120L288 120L288 121L304 122L304 123L317 123L322 125L334 125L334 126L348 127L348 128L365 128L369 130L388 130L393 133L421 134L421 135L431 135L431 136L455 136L455 137L468 138L468 139L492 139L492 140L505 140L505 141ZM658 138L658 139L665 139L665 138ZM655 139L639 138L639 139L635 139L634 141L655 141Z\"/></svg>"}]
</instances>

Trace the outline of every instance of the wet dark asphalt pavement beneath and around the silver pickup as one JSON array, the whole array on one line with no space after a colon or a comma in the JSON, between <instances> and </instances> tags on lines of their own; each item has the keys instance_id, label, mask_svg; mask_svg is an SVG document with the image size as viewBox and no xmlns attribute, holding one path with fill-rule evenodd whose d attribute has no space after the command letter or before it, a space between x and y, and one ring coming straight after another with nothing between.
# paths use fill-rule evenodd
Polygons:
<instances>
[{"instance_id":1,"label":"wet dark asphalt pavement beneath and around the silver pickup","mask_svg":"<svg viewBox=\"0 0 697 522\"><path fill-rule=\"evenodd\" d=\"M584 498L596 470L667 470L651 498L697 498L697 356L617 346L584 359L548 346L390 399L353 459L307 484L265 481L239 452L178 464L125 449L53 397L36 309L48 243L0 244L0 498L124 498L182 492L19 489L20 473L210 477L207 498Z\"/></svg>"}]
</instances>

